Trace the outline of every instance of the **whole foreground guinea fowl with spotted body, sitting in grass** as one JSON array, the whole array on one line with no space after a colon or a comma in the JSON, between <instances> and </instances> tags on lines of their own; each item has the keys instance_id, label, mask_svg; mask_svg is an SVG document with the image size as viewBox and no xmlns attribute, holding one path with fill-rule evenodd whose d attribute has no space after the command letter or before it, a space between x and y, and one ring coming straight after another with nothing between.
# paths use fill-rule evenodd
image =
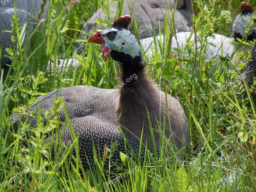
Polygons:
<instances>
[{"instance_id":1,"label":"whole foreground guinea fowl with spotted body, sitting in grass","mask_svg":"<svg viewBox=\"0 0 256 192\"><path fill-rule=\"evenodd\" d=\"M141 60L140 46L135 36L127 28L130 21L130 16L120 17L111 28L97 31L87 40L87 42L101 44L101 51L105 59L110 54L114 60L120 62L120 79L123 83L120 90L91 86L63 88L40 96L39 102L30 109L30 111L37 111L38 104L44 110L50 109L54 98L63 97L74 132L79 132L79 151L85 169L88 169L87 158L92 159L93 162L92 139L96 151L99 150L101 154L106 142L109 147L111 141L117 140L120 145L112 160L114 162L117 160L118 164L121 163L119 151L125 152L125 147L118 124L121 125L133 150L138 153L140 143L138 138L141 136L144 123L142 141L144 144L147 141L148 149L152 151L146 108L154 129L158 130L156 118L158 120L161 118L159 122L162 124L161 127L165 127L165 136L170 138L171 135L177 148L189 145L189 128L183 108L178 100L167 95L169 113L167 116L165 93L159 91L157 85L145 74L145 64ZM60 120L64 121L63 110L59 115ZM31 118L32 126L36 126L36 121L33 117ZM169 126L169 121L171 126ZM14 127L17 123L18 116L14 115ZM154 132L154 136L156 145L159 146L159 134ZM65 127L63 141L67 145L69 140L72 138L68 127Z\"/></svg>"}]
</instances>

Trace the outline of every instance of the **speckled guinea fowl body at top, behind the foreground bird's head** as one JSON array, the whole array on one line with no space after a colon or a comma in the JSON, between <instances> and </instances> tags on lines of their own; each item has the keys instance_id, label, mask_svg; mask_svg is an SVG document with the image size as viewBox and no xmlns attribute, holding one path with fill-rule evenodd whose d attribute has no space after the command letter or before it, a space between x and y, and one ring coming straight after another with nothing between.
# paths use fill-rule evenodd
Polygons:
<instances>
[{"instance_id":1,"label":"speckled guinea fowl body at top, behind the foreground bird's head","mask_svg":"<svg viewBox=\"0 0 256 192\"><path fill-rule=\"evenodd\" d=\"M168 9L170 9L170 21L172 21L172 13L175 7L175 0L132 0L124 1L123 14L133 15L134 19L138 20L138 27L140 30L140 38L147 38L153 36L152 25L156 31L159 32L159 24L161 30L164 30L165 16L168 16ZM115 19L117 10L117 2L109 5L109 17L111 20ZM193 15L193 7L191 0L177 0L177 9L175 13L175 29L176 32L190 31L192 22L190 15ZM106 18L106 14L99 9L93 16L84 24L84 31L91 31L97 24L95 20L102 20ZM159 23L160 22L160 23ZM81 34L83 36L83 34Z\"/></svg>"}]
</instances>

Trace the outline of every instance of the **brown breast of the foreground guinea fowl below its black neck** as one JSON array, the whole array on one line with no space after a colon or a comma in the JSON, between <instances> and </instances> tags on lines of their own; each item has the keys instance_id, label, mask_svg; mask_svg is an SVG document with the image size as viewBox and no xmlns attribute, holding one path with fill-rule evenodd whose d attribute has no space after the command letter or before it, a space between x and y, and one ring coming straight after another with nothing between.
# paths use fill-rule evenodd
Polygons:
<instances>
[{"instance_id":1,"label":"brown breast of the foreground guinea fowl below its black neck","mask_svg":"<svg viewBox=\"0 0 256 192\"><path fill-rule=\"evenodd\" d=\"M180 103L175 98L167 95L167 104L165 93L159 91L151 80L146 79L143 75L138 75L139 82L134 82L136 86L124 86L120 89L120 99L116 110L116 121L124 127L124 133L130 140L138 140L141 136L141 128L143 128L143 141L151 144L151 134L149 130L149 120L152 127L156 130L160 127L165 128L165 136L173 137L177 148L184 147L185 129L187 128L187 120ZM132 83L133 84L133 83ZM152 97L155 95L156 97ZM168 105L168 113L166 111ZM148 114L147 114L148 110ZM180 118L178 118L180 117ZM165 119L165 124L163 124ZM158 123L159 122L159 123ZM169 126L169 123L171 126ZM159 145L159 132L154 132L154 138ZM188 138L186 138L188 139ZM188 143L187 143L188 145ZM150 145L149 145L150 146Z\"/></svg>"}]
</instances>

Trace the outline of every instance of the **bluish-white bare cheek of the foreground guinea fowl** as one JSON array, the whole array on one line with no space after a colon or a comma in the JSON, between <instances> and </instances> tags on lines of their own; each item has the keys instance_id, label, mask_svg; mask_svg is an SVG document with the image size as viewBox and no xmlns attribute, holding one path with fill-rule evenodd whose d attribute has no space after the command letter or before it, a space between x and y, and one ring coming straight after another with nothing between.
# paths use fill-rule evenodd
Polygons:
<instances>
[{"instance_id":1,"label":"bluish-white bare cheek of the foreground guinea fowl","mask_svg":"<svg viewBox=\"0 0 256 192\"><path fill-rule=\"evenodd\" d=\"M112 50L124 52L125 54L131 55L132 58L140 55L140 46L137 39L126 29L118 31L116 39L109 40L108 38L104 38L104 40Z\"/></svg>"}]
</instances>

